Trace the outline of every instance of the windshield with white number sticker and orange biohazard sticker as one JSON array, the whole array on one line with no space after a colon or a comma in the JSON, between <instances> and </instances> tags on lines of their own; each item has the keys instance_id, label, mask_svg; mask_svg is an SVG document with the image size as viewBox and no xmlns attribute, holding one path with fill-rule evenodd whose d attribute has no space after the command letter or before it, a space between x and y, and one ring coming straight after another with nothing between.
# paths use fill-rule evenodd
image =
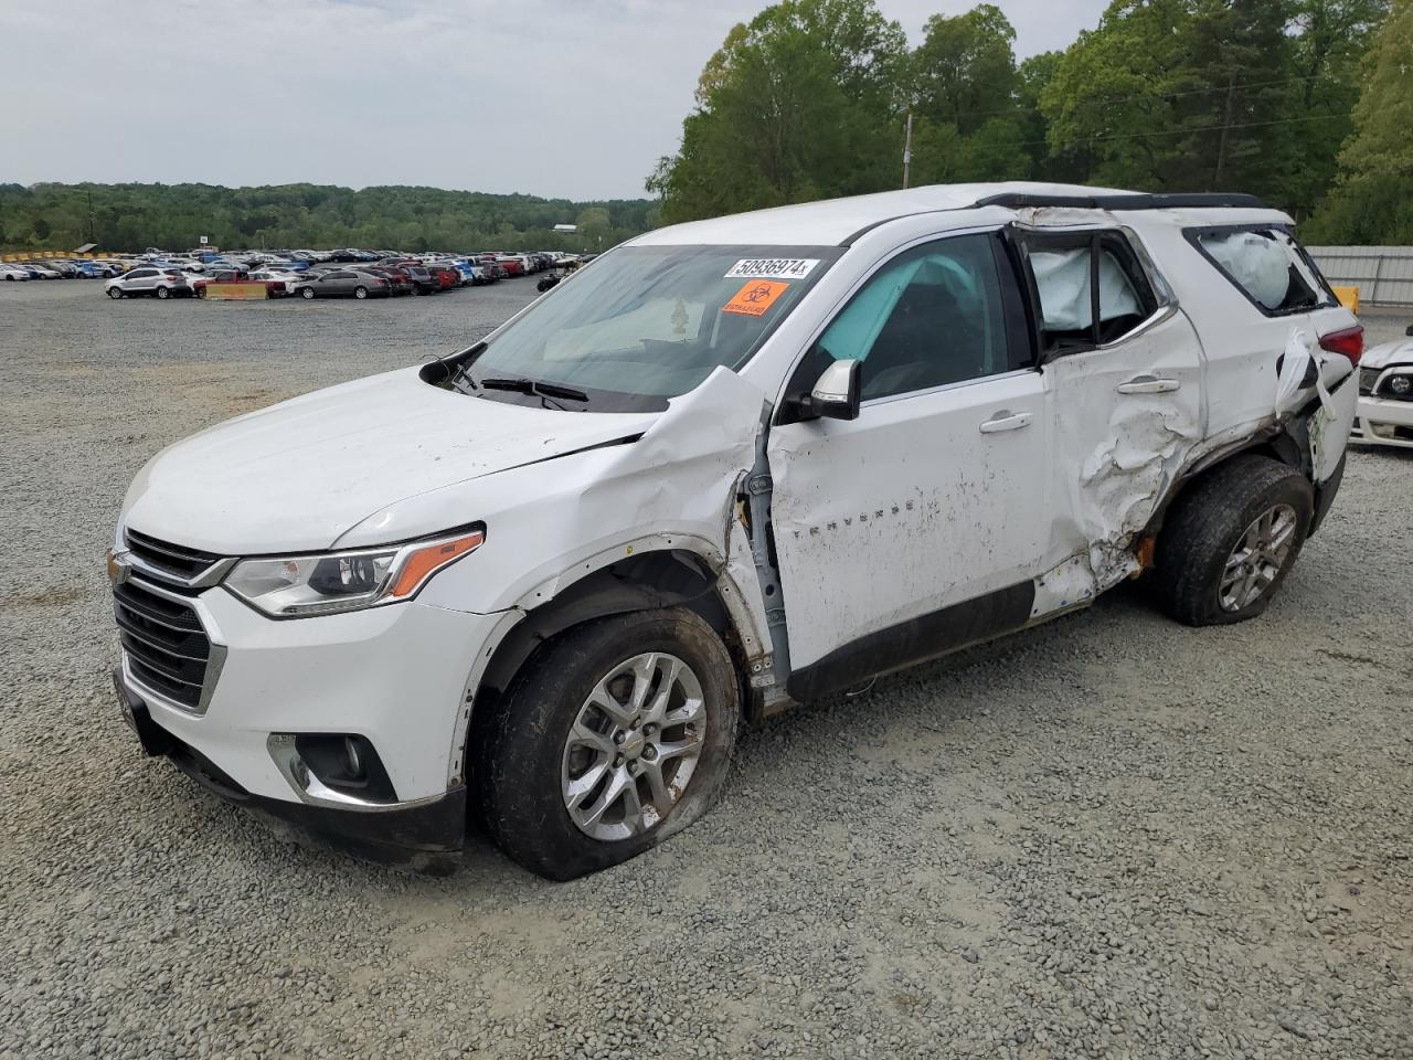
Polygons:
<instances>
[{"instance_id":1,"label":"windshield with white number sticker and orange biohazard sticker","mask_svg":"<svg viewBox=\"0 0 1413 1060\"><path fill-rule=\"evenodd\" d=\"M538 404L480 380L572 387L591 411L667 407L718 366L740 367L842 247L626 246L562 280L462 373L462 389ZM569 406L578 407L578 406Z\"/></svg>"}]
</instances>

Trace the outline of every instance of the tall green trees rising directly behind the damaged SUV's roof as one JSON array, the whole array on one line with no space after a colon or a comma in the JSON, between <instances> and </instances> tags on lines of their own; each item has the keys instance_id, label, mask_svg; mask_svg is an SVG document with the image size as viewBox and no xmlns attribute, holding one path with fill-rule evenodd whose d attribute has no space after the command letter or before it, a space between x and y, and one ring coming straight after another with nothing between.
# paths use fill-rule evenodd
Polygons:
<instances>
[{"instance_id":1,"label":"tall green trees rising directly behind the damaged SUV's roof","mask_svg":"<svg viewBox=\"0 0 1413 1060\"><path fill-rule=\"evenodd\" d=\"M1046 179L1243 191L1310 242L1413 243L1413 0L1113 0L1017 62L993 4L916 48L875 0L783 0L702 69L649 177L664 222L897 188Z\"/></svg>"}]
</instances>

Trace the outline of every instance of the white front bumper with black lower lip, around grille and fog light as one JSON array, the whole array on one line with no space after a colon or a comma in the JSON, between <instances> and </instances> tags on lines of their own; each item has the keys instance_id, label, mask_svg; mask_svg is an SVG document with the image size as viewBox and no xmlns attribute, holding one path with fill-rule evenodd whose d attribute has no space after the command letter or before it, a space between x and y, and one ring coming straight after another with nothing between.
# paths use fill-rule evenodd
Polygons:
<instances>
[{"instance_id":1,"label":"white front bumper with black lower lip, around grille and fog light","mask_svg":"<svg viewBox=\"0 0 1413 1060\"><path fill-rule=\"evenodd\" d=\"M503 615L417 601L270 619L223 588L185 601L211 643L199 702L178 702L124 646L114 680L148 753L219 794L345 845L459 849L465 831L466 688ZM315 736L372 745L390 794L325 784L295 746ZM383 858L387 859L387 858Z\"/></svg>"}]
</instances>

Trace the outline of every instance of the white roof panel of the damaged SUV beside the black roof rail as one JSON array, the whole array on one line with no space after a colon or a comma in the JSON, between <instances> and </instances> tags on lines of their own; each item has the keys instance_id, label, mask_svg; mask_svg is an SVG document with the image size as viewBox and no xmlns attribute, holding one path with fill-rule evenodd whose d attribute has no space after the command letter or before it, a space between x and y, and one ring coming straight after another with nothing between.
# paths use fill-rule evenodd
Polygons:
<instances>
[{"instance_id":1,"label":"white roof panel of the damaged SUV beside the black roof rail","mask_svg":"<svg viewBox=\"0 0 1413 1060\"><path fill-rule=\"evenodd\" d=\"M750 213L732 213L711 220L691 220L647 232L634 246L688 243L763 243L774 246L836 246L863 228L940 209L966 209L979 199L1007 192L1024 195L1092 196L1133 195L1118 188L1089 188L1081 184L1000 181L992 184L933 184L907 191L885 191L846 199L803 202Z\"/></svg>"}]
</instances>

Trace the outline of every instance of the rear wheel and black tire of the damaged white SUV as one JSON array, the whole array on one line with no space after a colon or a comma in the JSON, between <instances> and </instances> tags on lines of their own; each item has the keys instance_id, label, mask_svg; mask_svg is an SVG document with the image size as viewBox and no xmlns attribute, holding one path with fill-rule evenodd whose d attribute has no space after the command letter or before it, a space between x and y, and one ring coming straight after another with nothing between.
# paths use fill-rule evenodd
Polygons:
<instances>
[{"instance_id":1,"label":"rear wheel and black tire of the damaged white SUV","mask_svg":"<svg viewBox=\"0 0 1413 1060\"><path fill-rule=\"evenodd\" d=\"M1159 534L1160 603L1188 626L1256 618L1290 574L1313 514L1314 488L1286 464L1248 455L1214 468L1174 502Z\"/></svg>"}]
</instances>

